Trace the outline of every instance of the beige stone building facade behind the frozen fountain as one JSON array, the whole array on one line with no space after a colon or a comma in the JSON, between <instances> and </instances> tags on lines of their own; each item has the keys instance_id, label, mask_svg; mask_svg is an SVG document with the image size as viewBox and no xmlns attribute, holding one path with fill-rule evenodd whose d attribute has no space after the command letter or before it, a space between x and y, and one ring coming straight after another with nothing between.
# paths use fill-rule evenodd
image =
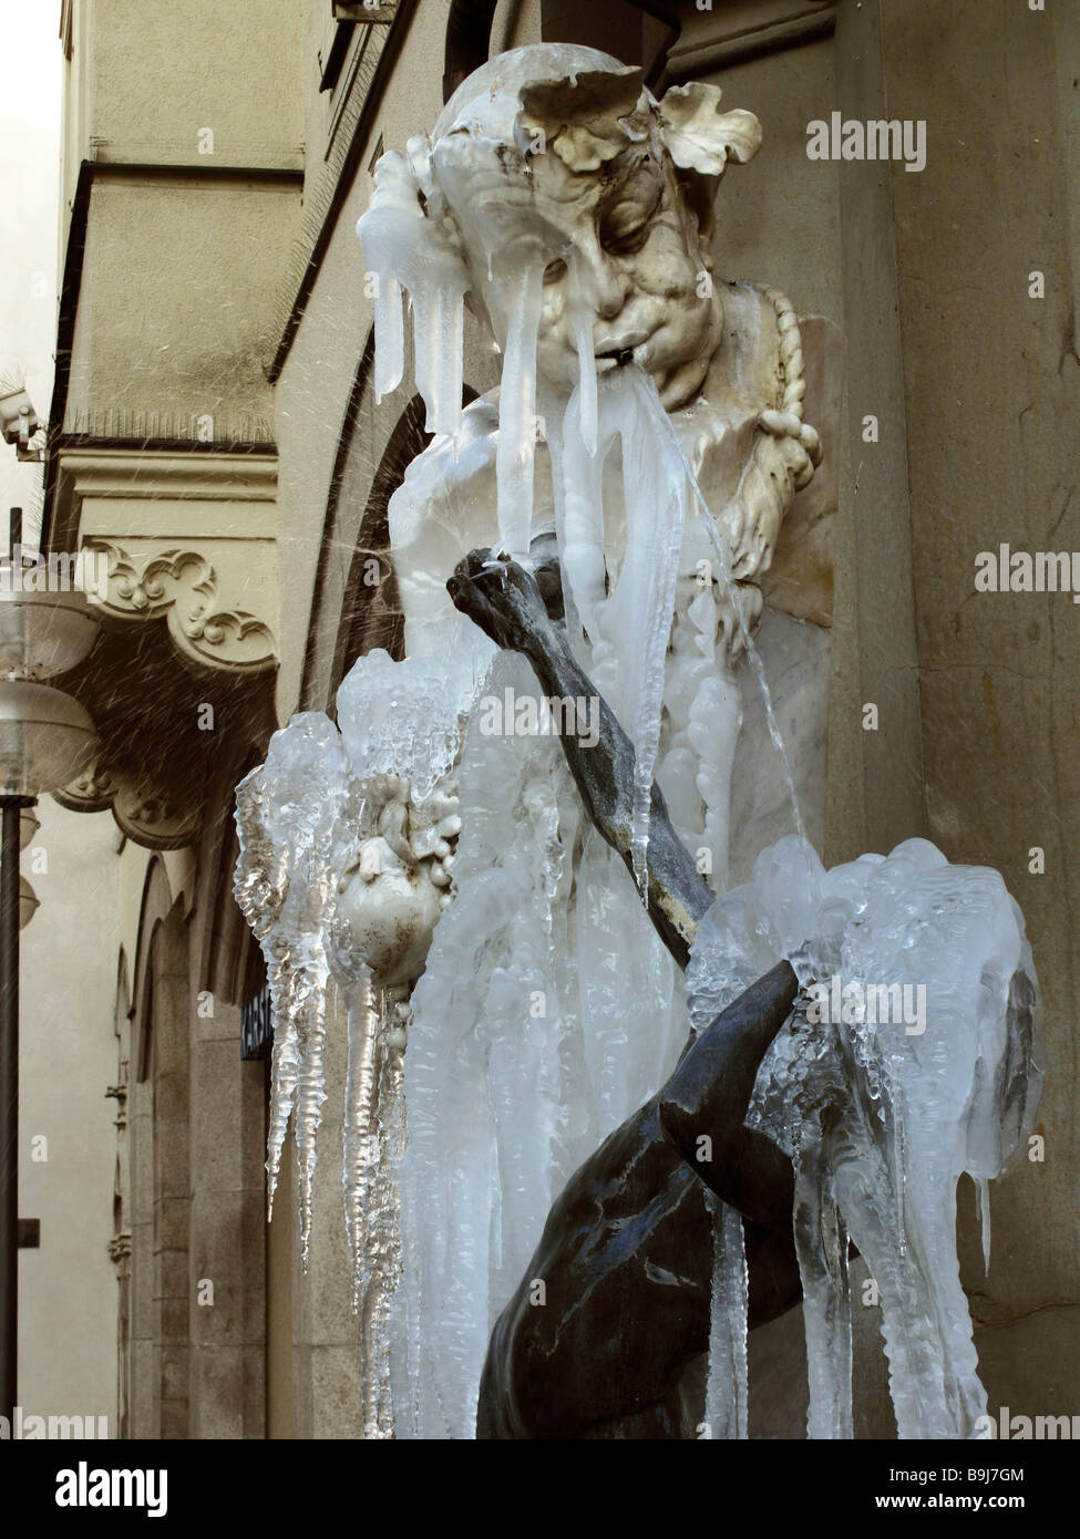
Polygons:
<instances>
[{"instance_id":1,"label":"beige stone building facade behind the frozen fountain","mask_svg":"<svg viewBox=\"0 0 1080 1539\"><path fill-rule=\"evenodd\" d=\"M994 1188L988 1276L961 1190L961 1257L992 1407L1071 1414L1078 643L1062 596L977 597L974 563L1080 543L1080 29L1020 0L65 0L43 548L109 563L68 685L100 757L59 800L125 836L102 930L120 1434L356 1434L334 1157L307 1273L288 1177L265 1220L265 977L231 896L233 788L294 711L333 709L356 656L401 643L393 582L362 573L390 577L387 502L427 437L407 391L374 400L354 235L373 166L488 51L541 40L658 91L716 83L764 125L724 189L718 271L844 339L843 391L820 385L827 528L784 553L820 566L832 631L823 856L924 834L997 866L1025 911L1045 1157ZM833 114L921 123L924 166L812 159L807 128ZM465 380L496 382L479 336ZM327 1151L340 1027L331 1008ZM857 1310L861 1436L890 1430L878 1319ZM801 1436L797 1327L755 1333L758 1436Z\"/></svg>"}]
</instances>

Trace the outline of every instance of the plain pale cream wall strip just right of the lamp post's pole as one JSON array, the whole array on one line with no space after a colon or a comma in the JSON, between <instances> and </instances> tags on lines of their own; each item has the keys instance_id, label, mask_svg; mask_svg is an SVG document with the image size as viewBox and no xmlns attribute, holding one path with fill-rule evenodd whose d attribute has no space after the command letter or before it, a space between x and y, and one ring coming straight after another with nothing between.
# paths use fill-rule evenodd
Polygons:
<instances>
[{"instance_id":1,"label":"plain pale cream wall strip just right of the lamp post's pole","mask_svg":"<svg viewBox=\"0 0 1080 1539\"><path fill-rule=\"evenodd\" d=\"M40 1219L42 1245L18 1254L18 1399L25 1414L106 1416L114 1437L117 1102L105 1090L117 1080L120 833L51 797L37 816L22 857L40 908L22 933L18 1213Z\"/></svg>"}]
</instances>

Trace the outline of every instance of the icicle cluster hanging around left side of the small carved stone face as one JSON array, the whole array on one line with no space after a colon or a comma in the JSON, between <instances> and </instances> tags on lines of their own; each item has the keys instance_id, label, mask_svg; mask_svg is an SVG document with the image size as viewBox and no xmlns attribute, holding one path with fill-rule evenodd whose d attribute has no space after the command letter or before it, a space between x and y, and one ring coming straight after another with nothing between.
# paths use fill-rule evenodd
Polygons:
<instances>
[{"instance_id":1,"label":"icicle cluster hanging around left side of the small carved stone face","mask_svg":"<svg viewBox=\"0 0 1080 1539\"><path fill-rule=\"evenodd\" d=\"M388 1313L401 1276L397 1162L405 1143L402 1054L407 1002L374 985L339 913L342 876L374 833L370 790L401 768L431 725L425 709L442 680L387 653L365 657L342 683L337 717L294 716L270 742L267 762L236 791L240 856L237 903L267 963L273 1017L271 1103L267 1137L273 1214L290 1122L296 1145L300 1260L308 1265L317 1134L327 1100L327 985L340 990L348 1020L342 1108L342 1185L361 1316L364 1436L393 1431ZM399 671L401 669L401 671ZM393 709L396 686L411 709ZM416 765L418 797L434 788L438 746ZM444 743L444 762L456 746ZM433 825L433 836L441 826Z\"/></svg>"}]
</instances>

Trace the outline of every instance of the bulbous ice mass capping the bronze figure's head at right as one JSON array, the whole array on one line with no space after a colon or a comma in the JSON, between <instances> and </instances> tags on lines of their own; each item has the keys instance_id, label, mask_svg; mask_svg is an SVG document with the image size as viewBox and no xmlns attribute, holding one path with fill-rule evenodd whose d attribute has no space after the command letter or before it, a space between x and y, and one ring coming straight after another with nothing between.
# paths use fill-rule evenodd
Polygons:
<instances>
[{"instance_id":1,"label":"bulbous ice mass capping the bronze figure's head at right","mask_svg":"<svg viewBox=\"0 0 1080 1539\"><path fill-rule=\"evenodd\" d=\"M1031 1048L1031 1022L1015 1019L1017 973L1034 986L1023 916L1000 874L951 865L924 839L830 871L804 839L770 845L750 882L719 897L698 928L687 973L695 1030L781 957L803 985L798 1023L835 1028L872 1083L918 1091L920 1127L954 1123L960 1168L997 1174L1026 1122L1017 1114L1014 1062L1023 1043L1011 1033L1023 1030ZM763 1065L752 1114L795 1148L807 1130L792 1117L783 1043ZM775 1074L781 1083L772 1083ZM994 1113L1006 1102L1009 1136L991 1139Z\"/></svg>"}]
</instances>

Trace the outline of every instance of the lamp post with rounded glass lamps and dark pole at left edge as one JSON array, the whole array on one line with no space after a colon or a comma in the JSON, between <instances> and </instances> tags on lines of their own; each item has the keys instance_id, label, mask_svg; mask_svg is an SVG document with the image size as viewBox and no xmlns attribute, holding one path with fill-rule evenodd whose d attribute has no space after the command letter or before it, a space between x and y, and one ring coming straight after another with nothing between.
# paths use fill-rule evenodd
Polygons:
<instances>
[{"instance_id":1,"label":"lamp post with rounded glass lamps and dark pole at left edge","mask_svg":"<svg viewBox=\"0 0 1080 1539\"><path fill-rule=\"evenodd\" d=\"M74 668L96 636L97 620L85 594L23 589L22 508L12 508L11 557L0 562L0 1414L9 1425L18 1362L22 819L45 791L82 774L92 756L94 723L86 711L39 680Z\"/></svg>"}]
</instances>

